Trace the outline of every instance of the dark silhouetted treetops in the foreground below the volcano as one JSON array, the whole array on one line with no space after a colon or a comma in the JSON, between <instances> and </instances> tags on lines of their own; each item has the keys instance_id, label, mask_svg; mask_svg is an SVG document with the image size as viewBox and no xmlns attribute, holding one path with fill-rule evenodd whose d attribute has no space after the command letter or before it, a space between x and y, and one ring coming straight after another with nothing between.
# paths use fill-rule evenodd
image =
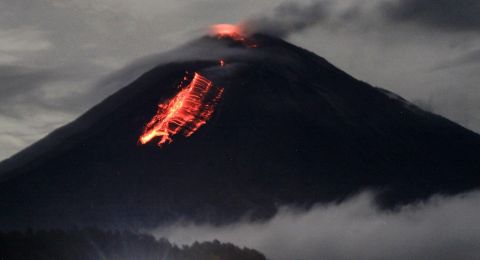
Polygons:
<instances>
[{"instance_id":1,"label":"dark silhouetted treetops in the foreground below the volcano","mask_svg":"<svg viewBox=\"0 0 480 260\"><path fill-rule=\"evenodd\" d=\"M179 247L151 235L88 228L0 232L0 259L265 260L265 257L255 250L217 240Z\"/></svg>"}]
</instances>

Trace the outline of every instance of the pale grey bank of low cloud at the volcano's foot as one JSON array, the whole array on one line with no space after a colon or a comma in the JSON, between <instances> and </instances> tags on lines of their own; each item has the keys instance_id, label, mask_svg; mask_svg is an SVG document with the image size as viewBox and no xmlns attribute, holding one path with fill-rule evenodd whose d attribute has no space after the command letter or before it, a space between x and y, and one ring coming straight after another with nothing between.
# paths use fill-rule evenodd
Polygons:
<instances>
[{"instance_id":1,"label":"pale grey bank of low cloud at the volcano's foot","mask_svg":"<svg viewBox=\"0 0 480 260\"><path fill-rule=\"evenodd\" d=\"M394 212L372 195L305 211L283 207L271 220L228 226L177 223L153 231L172 242L219 239L258 249L272 260L477 259L480 192L437 196Z\"/></svg>"}]
</instances>

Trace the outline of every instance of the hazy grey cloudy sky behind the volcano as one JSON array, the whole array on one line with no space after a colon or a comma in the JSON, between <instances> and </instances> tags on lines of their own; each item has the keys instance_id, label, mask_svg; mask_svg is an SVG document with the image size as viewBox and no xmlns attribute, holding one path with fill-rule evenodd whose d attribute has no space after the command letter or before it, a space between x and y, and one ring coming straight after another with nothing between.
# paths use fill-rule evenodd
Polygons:
<instances>
[{"instance_id":1,"label":"hazy grey cloudy sky behind the volcano","mask_svg":"<svg viewBox=\"0 0 480 260\"><path fill-rule=\"evenodd\" d=\"M0 160L122 85L132 61L248 19L480 132L477 0L0 0Z\"/></svg>"}]
</instances>

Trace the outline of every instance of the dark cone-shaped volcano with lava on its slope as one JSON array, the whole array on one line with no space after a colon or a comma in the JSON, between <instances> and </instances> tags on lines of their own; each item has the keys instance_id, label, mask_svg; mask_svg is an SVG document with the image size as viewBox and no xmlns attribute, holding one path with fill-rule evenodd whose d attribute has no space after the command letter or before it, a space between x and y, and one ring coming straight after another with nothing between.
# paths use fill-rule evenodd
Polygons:
<instances>
[{"instance_id":1,"label":"dark cone-shaped volcano with lava on its slope","mask_svg":"<svg viewBox=\"0 0 480 260\"><path fill-rule=\"evenodd\" d=\"M248 41L192 41L2 162L1 228L267 219L365 189L391 209L480 185L476 133L281 39ZM216 96L181 99L197 74Z\"/></svg>"}]
</instances>

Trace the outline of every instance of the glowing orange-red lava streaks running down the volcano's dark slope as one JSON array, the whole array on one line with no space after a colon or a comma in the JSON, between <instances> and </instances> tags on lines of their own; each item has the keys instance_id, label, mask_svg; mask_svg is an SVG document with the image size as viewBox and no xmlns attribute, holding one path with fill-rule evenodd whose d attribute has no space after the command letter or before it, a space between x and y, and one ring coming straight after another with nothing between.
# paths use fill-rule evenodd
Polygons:
<instances>
[{"instance_id":1,"label":"glowing orange-red lava streaks running down the volcano's dark slope","mask_svg":"<svg viewBox=\"0 0 480 260\"><path fill-rule=\"evenodd\" d=\"M159 137L158 146L173 141L172 136L182 133L191 136L212 116L223 88L212 88L210 80L195 73L192 81L173 98L158 105L156 115L147 123L139 138L141 144Z\"/></svg>"}]
</instances>

